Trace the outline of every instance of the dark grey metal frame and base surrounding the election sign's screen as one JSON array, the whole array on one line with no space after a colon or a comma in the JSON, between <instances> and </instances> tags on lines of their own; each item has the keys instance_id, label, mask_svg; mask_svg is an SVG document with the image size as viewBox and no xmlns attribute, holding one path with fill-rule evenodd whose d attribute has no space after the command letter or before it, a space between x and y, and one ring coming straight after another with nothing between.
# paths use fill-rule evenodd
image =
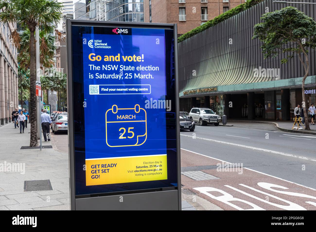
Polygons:
<instances>
[{"instance_id":1,"label":"dark grey metal frame and base surrounding the election sign's screen","mask_svg":"<svg viewBox=\"0 0 316 232\"><path fill-rule=\"evenodd\" d=\"M75 194L75 151L74 151L74 99L72 77L72 26L91 27L130 27L130 28L160 28L172 29L174 38L174 68L175 68L175 115L177 140L177 187L175 189L131 191L129 193L97 194L85 197L76 197ZM70 210L181 210L181 163L180 163L180 127L179 127L179 83L178 83L178 45L177 24L139 23L139 22L112 22L71 20L66 21L67 45L67 106L68 106L68 156L69 156L69 186ZM124 198L123 202L120 201Z\"/></svg>"}]
</instances>

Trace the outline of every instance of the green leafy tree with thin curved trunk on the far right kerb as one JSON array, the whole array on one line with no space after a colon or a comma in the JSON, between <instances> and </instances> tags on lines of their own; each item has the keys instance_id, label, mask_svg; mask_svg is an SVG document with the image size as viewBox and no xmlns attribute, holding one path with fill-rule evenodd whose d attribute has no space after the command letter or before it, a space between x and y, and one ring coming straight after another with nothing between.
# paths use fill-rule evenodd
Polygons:
<instances>
[{"instance_id":1,"label":"green leafy tree with thin curved trunk on the far right kerb","mask_svg":"<svg viewBox=\"0 0 316 232\"><path fill-rule=\"evenodd\" d=\"M304 109L305 129L310 130L305 105L305 80L309 74L308 49L316 47L316 22L295 7L285 7L262 15L264 22L254 26L252 39L260 39L264 59L276 58L285 54L281 63L287 63L296 54L304 67L302 80L302 108Z\"/></svg>"}]
</instances>

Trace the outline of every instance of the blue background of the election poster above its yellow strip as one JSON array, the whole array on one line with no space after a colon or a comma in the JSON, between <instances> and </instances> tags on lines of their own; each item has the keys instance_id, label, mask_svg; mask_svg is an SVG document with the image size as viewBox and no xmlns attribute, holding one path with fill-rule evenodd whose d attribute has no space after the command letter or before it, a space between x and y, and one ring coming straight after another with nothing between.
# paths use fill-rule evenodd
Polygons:
<instances>
[{"instance_id":1,"label":"blue background of the election poster above its yellow strip","mask_svg":"<svg viewBox=\"0 0 316 232\"><path fill-rule=\"evenodd\" d=\"M87 44L83 45L83 84L84 96L87 103L84 109L85 123L85 157L89 158L108 158L121 156L140 156L140 155L156 155L166 154L166 122L159 120L159 116L164 115L166 109L146 109L145 100L152 98L153 100L165 99L166 95L166 68L165 68L165 31L162 29L143 29L130 28L131 35L117 34L83 34L82 38L87 39ZM90 48L89 40L102 40L111 48ZM156 44L156 39L160 43ZM94 43L93 43L94 44ZM101 61L90 61L88 55L95 53L102 57ZM105 55L116 56L121 55L120 62L105 62ZM122 56L144 56L144 62L124 62ZM89 64L100 66L101 70L90 70ZM131 65L135 67L135 71L123 71L123 73L140 73L152 74L154 79L89 79L90 74L119 74L113 70L102 70L102 65ZM137 71L136 67L142 66L158 66L159 71ZM122 84L150 84L151 94L137 95L89 95L89 85L122 85ZM133 108L135 104L139 104L147 112L147 140L141 146L130 147L109 147L106 145L106 110L111 109L115 104L118 108ZM165 118L164 118L165 119ZM159 122L159 123L158 123ZM129 125L130 127L132 125ZM127 128L126 128L127 130ZM142 128L135 126L135 134L143 133ZM113 136L119 140L119 131L112 131Z\"/></svg>"}]
</instances>

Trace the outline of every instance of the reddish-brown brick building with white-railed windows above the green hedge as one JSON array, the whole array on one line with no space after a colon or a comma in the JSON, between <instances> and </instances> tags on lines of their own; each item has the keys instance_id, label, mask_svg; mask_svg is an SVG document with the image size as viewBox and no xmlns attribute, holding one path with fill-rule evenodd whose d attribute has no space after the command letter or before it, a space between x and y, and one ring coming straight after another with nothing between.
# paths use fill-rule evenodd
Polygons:
<instances>
[{"instance_id":1,"label":"reddish-brown brick building with white-railed windows above the green hedge","mask_svg":"<svg viewBox=\"0 0 316 232\"><path fill-rule=\"evenodd\" d=\"M144 0L144 21L177 23L178 36L245 0Z\"/></svg>"}]
</instances>

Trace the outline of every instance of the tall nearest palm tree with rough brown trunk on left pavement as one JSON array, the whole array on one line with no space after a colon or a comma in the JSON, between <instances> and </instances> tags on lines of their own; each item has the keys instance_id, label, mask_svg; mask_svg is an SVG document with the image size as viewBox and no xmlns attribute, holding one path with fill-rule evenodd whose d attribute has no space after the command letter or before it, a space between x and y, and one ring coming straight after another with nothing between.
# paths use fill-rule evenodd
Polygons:
<instances>
[{"instance_id":1,"label":"tall nearest palm tree with rough brown trunk on left pavement","mask_svg":"<svg viewBox=\"0 0 316 232\"><path fill-rule=\"evenodd\" d=\"M54 26L62 19L63 3L57 0L1 0L0 21L3 23L18 23L22 28L30 31L30 103L31 103L31 138L30 146L38 146L37 114L36 114L36 67L35 67L35 38L36 27L46 32L52 32ZM16 29L11 32L13 44L20 47L20 35Z\"/></svg>"}]
</instances>

